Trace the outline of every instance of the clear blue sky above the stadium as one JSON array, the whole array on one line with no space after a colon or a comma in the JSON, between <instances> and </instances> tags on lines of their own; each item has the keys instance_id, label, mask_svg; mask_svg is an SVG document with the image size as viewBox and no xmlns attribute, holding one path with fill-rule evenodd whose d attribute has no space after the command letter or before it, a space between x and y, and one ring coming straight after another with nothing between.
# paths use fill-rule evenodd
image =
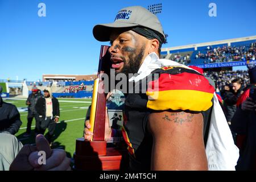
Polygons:
<instances>
[{"instance_id":1,"label":"clear blue sky above the stadium","mask_svg":"<svg viewBox=\"0 0 256 182\"><path fill-rule=\"evenodd\" d=\"M46 17L38 16L41 2ZM211 2L217 17L208 15ZM158 18L169 35L163 47L256 35L255 0L0 0L0 80L93 74L100 46L109 45L93 38L94 25L113 22L122 7L154 3L163 5Z\"/></svg>"}]
</instances>

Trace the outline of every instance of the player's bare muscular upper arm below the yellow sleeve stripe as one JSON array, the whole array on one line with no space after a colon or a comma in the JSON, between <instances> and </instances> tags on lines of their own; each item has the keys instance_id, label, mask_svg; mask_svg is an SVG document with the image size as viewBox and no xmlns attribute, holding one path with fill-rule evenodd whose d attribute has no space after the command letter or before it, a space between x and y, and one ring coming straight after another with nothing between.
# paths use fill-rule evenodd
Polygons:
<instances>
[{"instance_id":1,"label":"player's bare muscular upper arm below the yellow sleeve stripe","mask_svg":"<svg viewBox=\"0 0 256 182\"><path fill-rule=\"evenodd\" d=\"M203 115L162 111L150 114L151 170L208 170Z\"/></svg>"}]
</instances>

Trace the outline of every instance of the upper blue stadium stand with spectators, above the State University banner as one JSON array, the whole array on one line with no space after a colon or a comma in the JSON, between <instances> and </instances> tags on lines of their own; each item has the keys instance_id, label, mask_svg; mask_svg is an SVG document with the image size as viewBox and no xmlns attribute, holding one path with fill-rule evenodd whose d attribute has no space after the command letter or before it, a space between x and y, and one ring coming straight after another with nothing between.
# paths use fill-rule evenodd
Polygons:
<instances>
[{"instance_id":1,"label":"upper blue stadium stand with spectators, above the State University banner","mask_svg":"<svg viewBox=\"0 0 256 182\"><path fill-rule=\"evenodd\" d=\"M251 40L248 40L251 39ZM162 48L161 58L185 65L250 61L256 57L256 36Z\"/></svg>"}]
</instances>

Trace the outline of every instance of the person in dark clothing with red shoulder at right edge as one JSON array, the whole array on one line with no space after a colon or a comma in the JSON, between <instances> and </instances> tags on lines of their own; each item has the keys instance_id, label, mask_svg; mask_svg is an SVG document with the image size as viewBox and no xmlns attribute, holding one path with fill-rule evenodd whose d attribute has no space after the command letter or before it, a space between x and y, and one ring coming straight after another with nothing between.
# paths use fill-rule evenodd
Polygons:
<instances>
[{"instance_id":1,"label":"person in dark clothing with red shoulder at right edge","mask_svg":"<svg viewBox=\"0 0 256 182\"><path fill-rule=\"evenodd\" d=\"M250 85L246 86L238 98L231 126L237 133L237 146L240 148L237 170L256 170L256 66L253 63L247 67Z\"/></svg>"}]
</instances>

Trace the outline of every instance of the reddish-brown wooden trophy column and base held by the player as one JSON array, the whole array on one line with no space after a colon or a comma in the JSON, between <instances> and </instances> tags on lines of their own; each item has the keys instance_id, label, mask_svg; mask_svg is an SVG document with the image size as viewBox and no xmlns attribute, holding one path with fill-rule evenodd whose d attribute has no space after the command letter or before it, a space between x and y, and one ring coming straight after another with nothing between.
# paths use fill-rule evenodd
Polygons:
<instances>
[{"instance_id":1,"label":"reddish-brown wooden trophy column and base held by the player","mask_svg":"<svg viewBox=\"0 0 256 182\"><path fill-rule=\"evenodd\" d=\"M108 46L101 46L98 78L94 81L93 98L90 111L90 124L93 132L92 141L84 138L76 139L76 151L74 154L76 170L119 170L122 154L115 148L106 147L105 114L106 94L102 92L104 83L101 73L109 75L111 68ZM101 90L100 90L101 89Z\"/></svg>"}]
</instances>

